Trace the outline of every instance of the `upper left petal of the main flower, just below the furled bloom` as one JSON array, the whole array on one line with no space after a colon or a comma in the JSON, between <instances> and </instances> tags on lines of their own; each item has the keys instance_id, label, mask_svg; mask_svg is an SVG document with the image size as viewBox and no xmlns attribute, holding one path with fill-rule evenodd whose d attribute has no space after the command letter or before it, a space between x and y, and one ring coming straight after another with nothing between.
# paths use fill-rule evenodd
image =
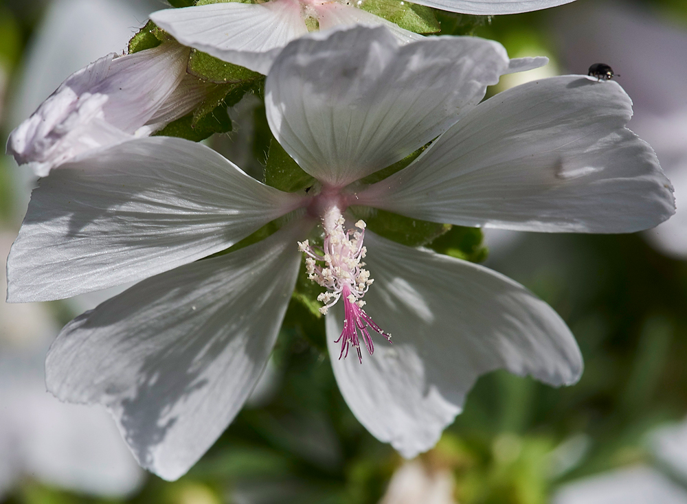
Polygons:
<instances>
[{"instance_id":1,"label":"upper left petal of the main flower, just below the furled bloom","mask_svg":"<svg viewBox=\"0 0 687 504\"><path fill-rule=\"evenodd\" d=\"M168 271L299 201L202 144L128 141L41 180L8 259L8 300L62 299Z\"/></svg>"}]
</instances>

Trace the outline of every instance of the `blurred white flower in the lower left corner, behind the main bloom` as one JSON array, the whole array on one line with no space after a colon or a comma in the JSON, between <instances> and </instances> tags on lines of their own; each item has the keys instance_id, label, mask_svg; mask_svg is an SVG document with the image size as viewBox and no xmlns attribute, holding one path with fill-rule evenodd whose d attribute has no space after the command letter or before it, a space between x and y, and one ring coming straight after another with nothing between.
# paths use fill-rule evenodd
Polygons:
<instances>
[{"instance_id":1,"label":"blurred white flower in the lower left corner, behind the main bloom","mask_svg":"<svg viewBox=\"0 0 687 504\"><path fill-rule=\"evenodd\" d=\"M0 257L12 238L0 231ZM107 497L142 483L104 411L64 404L45 391L43 360L57 332L45 306L0 301L0 501L23 477Z\"/></svg>"}]
</instances>

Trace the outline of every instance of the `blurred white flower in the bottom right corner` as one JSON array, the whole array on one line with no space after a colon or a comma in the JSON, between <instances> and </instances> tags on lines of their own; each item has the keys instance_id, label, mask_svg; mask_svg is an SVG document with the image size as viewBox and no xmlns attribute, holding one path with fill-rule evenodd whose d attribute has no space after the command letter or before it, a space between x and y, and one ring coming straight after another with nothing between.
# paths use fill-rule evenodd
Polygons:
<instances>
[{"instance_id":1,"label":"blurred white flower in the bottom right corner","mask_svg":"<svg viewBox=\"0 0 687 504\"><path fill-rule=\"evenodd\" d=\"M553 504L687 504L687 422L647 436L657 465L633 466L566 483Z\"/></svg>"}]
</instances>

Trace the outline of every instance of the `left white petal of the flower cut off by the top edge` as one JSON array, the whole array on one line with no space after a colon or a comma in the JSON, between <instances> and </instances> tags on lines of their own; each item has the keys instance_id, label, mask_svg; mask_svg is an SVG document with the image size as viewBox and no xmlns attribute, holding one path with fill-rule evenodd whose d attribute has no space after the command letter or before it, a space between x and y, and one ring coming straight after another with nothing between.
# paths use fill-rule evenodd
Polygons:
<instances>
[{"instance_id":1,"label":"left white petal of the flower cut off by the top edge","mask_svg":"<svg viewBox=\"0 0 687 504\"><path fill-rule=\"evenodd\" d=\"M264 74L284 45L308 33L297 0L210 3L160 10L150 19L183 45Z\"/></svg>"}]
</instances>

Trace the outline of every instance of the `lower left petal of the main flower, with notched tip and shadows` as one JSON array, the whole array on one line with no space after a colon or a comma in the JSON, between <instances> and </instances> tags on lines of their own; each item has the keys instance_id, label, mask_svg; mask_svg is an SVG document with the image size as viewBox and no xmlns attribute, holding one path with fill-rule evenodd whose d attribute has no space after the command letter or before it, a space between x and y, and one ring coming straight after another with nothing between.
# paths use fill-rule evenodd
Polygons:
<instances>
[{"instance_id":1,"label":"lower left petal of the main flower, with notched tip and shadows","mask_svg":"<svg viewBox=\"0 0 687 504\"><path fill-rule=\"evenodd\" d=\"M139 463L179 478L234 419L267 363L304 223L147 279L74 319L47 356L48 389L106 405Z\"/></svg>"}]
</instances>

